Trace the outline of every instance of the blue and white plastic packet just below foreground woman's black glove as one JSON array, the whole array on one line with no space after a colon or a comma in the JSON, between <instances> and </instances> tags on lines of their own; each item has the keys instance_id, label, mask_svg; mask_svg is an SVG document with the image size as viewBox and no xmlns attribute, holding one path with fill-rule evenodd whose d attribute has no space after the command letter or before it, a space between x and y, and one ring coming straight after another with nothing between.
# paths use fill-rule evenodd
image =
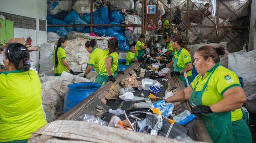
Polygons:
<instances>
[{"instance_id":1,"label":"blue and white plastic packet just below foreground woman's black glove","mask_svg":"<svg viewBox=\"0 0 256 143\"><path fill-rule=\"evenodd\" d=\"M185 110L184 112L180 113L179 115L173 117L173 119L181 125L184 125L184 124L192 121L194 118L195 118L195 115L191 114L189 112L189 110Z\"/></svg>"}]
</instances>

